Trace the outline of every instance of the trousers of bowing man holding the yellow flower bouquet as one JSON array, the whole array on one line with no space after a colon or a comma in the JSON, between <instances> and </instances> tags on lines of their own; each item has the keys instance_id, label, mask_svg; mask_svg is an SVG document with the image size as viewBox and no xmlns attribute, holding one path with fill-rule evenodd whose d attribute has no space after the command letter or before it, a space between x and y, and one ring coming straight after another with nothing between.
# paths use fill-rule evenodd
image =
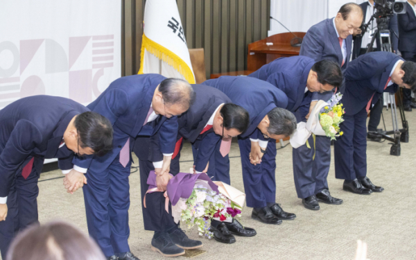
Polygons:
<instances>
[{"instance_id":1,"label":"trousers of bowing man holding the yellow flower bouquet","mask_svg":"<svg viewBox=\"0 0 416 260\"><path fill-rule=\"evenodd\" d=\"M327 177L331 164L331 139L324 136L315 136L308 139L306 144L292 150L293 177L297 198L313 196L323 189L328 189ZM315 153L315 159L313 154Z\"/></svg>"}]
</instances>

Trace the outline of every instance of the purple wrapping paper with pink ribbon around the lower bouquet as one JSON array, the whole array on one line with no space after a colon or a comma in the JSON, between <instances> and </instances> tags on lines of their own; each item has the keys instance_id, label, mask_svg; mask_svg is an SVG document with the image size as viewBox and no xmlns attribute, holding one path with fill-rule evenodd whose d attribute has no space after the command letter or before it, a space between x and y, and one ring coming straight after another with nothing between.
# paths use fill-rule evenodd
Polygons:
<instances>
[{"instance_id":1,"label":"purple wrapping paper with pink ribbon around the lower bouquet","mask_svg":"<svg viewBox=\"0 0 416 260\"><path fill-rule=\"evenodd\" d=\"M218 192L218 186L208 177L207 173L177 173L168 182L166 191L172 205L176 205L180 198L189 198L191 196L196 180L205 180L212 190ZM157 188L155 171L150 171L147 184L148 189Z\"/></svg>"}]
</instances>

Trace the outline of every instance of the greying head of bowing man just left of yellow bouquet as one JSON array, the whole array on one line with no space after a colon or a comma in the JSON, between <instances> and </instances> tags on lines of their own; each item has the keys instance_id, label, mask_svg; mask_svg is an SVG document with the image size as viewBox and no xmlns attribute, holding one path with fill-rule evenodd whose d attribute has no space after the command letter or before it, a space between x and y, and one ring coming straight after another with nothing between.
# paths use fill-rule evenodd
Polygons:
<instances>
[{"instance_id":1,"label":"greying head of bowing man just left of yellow bouquet","mask_svg":"<svg viewBox=\"0 0 416 260\"><path fill-rule=\"evenodd\" d=\"M264 137L272 139L284 139L296 130L295 115L284 108L275 107L264 116L257 128Z\"/></svg>"}]
</instances>

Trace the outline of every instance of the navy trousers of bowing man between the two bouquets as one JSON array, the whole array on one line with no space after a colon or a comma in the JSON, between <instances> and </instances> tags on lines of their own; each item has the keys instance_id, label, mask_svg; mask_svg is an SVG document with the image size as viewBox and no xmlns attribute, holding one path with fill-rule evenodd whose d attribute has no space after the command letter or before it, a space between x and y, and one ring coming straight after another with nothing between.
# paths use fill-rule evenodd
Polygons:
<instances>
[{"instance_id":1,"label":"navy trousers of bowing man between the two bouquets","mask_svg":"<svg viewBox=\"0 0 416 260\"><path fill-rule=\"evenodd\" d=\"M247 206L258 208L266 207L267 203L275 203L276 140L269 139L266 153L257 165L250 163L250 138L239 138L239 146Z\"/></svg>"}]
</instances>

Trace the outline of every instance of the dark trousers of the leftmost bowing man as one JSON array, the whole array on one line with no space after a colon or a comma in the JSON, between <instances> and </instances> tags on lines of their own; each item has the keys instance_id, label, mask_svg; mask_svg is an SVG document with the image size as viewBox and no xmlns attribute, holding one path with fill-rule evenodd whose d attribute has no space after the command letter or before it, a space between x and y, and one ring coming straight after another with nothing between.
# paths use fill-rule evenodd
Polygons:
<instances>
[{"instance_id":1,"label":"dark trousers of the leftmost bowing man","mask_svg":"<svg viewBox=\"0 0 416 260\"><path fill-rule=\"evenodd\" d=\"M8 214L6 220L0 221L0 252L1 258L6 259L6 254L12 239L16 234L32 225L39 223L37 220L37 196L39 188L37 180L42 170L44 159L35 159L28 178L21 176L21 168L13 178L12 187L7 197Z\"/></svg>"}]
</instances>

